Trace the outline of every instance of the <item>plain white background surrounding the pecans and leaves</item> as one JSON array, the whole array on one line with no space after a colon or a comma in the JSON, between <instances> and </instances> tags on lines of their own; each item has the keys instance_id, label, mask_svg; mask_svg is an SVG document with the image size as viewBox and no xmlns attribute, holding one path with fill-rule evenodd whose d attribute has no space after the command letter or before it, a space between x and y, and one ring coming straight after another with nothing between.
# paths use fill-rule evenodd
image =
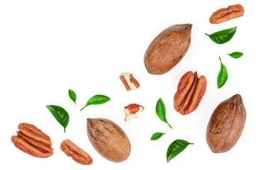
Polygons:
<instances>
[{"instance_id":1,"label":"plain white background surrounding the pecans and leaves","mask_svg":"<svg viewBox=\"0 0 256 170\"><path fill-rule=\"evenodd\" d=\"M213 25L210 15L218 8L242 4L244 16ZM255 1L0 1L1 164L0 169L255 169ZM177 23L192 23L191 46L180 63L164 75L151 75L144 67L144 52L161 30ZM217 45L205 33L238 26L230 42ZM233 59L227 53L244 55ZM220 61L228 81L217 89ZM180 115L173 97L178 80L198 71L208 81L206 94L193 113ZM142 85L126 91L119 74L132 72ZM68 96L77 94L77 104ZM88 106L87 100L104 94L112 100ZM235 94L243 98L247 120L237 145L213 154L206 143L206 127L213 110ZM166 118L156 116L162 98ZM124 121L123 107L139 103L144 111ZM66 132L46 105L58 105L70 115ZM127 133L132 153L127 161L113 163L90 144L87 118L108 118ZM53 142L54 154L40 159L14 147L11 136L19 123L36 125ZM166 132L151 141L154 132ZM60 150L69 139L93 159L82 166ZM176 139L189 145L166 163L166 150ZM4 168L5 167L5 168Z\"/></svg>"}]
</instances>

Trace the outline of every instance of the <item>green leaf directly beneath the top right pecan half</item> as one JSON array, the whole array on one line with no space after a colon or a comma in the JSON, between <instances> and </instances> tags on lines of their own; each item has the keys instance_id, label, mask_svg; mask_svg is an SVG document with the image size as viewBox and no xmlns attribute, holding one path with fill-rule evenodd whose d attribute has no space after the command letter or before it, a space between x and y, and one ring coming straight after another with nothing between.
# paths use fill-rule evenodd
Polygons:
<instances>
[{"instance_id":1,"label":"green leaf directly beneath the top right pecan half","mask_svg":"<svg viewBox=\"0 0 256 170\"><path fill-rule=\"evenodd\" d=\"M225 42L228 42L229 40L231 40L233 38L233 36L235 35L235 31L238 27L233 27L233 28L229 28L226 30L220 30L216 33L213 33L211 35L208 35L206 33L206 35L209 36L209 38L211 40L213 40L213 42L217 43L217 44L224 44Z\"/></svg>"}]
</instances>

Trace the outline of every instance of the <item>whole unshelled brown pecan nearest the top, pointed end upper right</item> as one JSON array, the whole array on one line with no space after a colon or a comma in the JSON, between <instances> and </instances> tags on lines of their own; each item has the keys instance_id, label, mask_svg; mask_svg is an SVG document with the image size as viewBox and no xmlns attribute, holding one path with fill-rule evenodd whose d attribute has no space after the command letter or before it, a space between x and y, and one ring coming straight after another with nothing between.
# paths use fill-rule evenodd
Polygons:
<instances>
[{"instance_id":1,"label":"whole unshelled brown pecan nearest the top, pointed end upper right","mask_svg":"<svg viewBox=\"0 0 256 170\"><path fill-rule=\"evenodd\" d=\"M154 38L144 55L150 74L169 72L186 55L191 43L192 24L177 24L166 28Z\"/></svg>"}]
</instances>

